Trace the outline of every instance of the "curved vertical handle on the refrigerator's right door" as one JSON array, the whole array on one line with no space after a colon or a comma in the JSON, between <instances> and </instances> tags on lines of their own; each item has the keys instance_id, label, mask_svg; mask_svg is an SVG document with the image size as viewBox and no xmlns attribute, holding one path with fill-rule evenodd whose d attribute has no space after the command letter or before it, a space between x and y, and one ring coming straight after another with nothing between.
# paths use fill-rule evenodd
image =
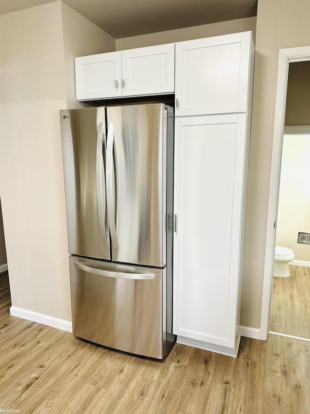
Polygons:
<instances>
[{"instance_id":1,"label":"curved vertical handle on the refrigerator's right door","mask_svg":"<svg viewBox=\"0 0 310 414\"><path fill-rule=\"evenodd\" d=\"M116 145L114 144L114 124L109 122L108 128L108 138L107 138L107 170L106 170L106 177L107 177L107 208L108 208L108 217L109 217L109 228L110 228L110 236L112 241L112 247L117 248L117 224L118 222L118 209L119 209L119 183L116 185L115 191L115 199L116 199L116 216L114 216L114 208L113 208L113 146L116 153L117 158L117 151ZM116 160L117 162L117 160ZM119 180L119 172L118 172L118 164L117 164L117 171L116 171L116 181Z\"/></svg>"}]
</instances>

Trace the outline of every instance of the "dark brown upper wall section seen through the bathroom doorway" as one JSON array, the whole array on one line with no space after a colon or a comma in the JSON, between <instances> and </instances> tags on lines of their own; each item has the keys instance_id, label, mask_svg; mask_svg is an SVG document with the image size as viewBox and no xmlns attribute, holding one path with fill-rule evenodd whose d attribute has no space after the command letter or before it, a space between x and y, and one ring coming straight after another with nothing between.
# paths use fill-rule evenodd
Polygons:
<instances>
[{"instance_id":1,"label":"dark brown upper wall section seen through the bathroom doorway","mask_svg":"<svg viewBox=\"0 0 310 414\"><path fill-rule=\"evenodd\" d=\"M285 125L310 125L310 61L290 63Z\"/></svg>"}]
</instances>

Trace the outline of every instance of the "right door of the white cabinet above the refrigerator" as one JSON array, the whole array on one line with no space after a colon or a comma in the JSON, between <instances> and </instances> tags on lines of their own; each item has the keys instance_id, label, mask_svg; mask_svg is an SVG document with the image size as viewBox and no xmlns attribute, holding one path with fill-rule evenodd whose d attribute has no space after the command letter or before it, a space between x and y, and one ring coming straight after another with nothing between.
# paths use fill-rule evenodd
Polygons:
<instances>
[{"instance_id":1,"label":"right door of the white cabinet above the refrigerator","mask_svg":"<svg viewBox=\"0 0 310 414\"><path fill-rule=\"evenodd\" d=\"M174 92L174 43L122 51L123 96Z\"/></svg>"}]
</instances>

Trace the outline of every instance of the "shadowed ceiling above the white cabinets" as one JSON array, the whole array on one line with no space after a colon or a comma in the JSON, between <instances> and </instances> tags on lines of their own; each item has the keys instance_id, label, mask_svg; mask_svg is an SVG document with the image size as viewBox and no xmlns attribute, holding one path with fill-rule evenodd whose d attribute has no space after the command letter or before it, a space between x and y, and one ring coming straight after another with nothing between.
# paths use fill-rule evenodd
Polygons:
<instances>
[{"instance_id":1,"label":"shadowed ceiling above the white cabinets","mask_svg":"<svg viewBox=\"0 0 310 414\"><path fill-rule=\"evenodd\" d=\"M0 14L56 0L0 0ZM256 16L258 0L62 0L115 39Z\"/></svg>"}]
</instances>

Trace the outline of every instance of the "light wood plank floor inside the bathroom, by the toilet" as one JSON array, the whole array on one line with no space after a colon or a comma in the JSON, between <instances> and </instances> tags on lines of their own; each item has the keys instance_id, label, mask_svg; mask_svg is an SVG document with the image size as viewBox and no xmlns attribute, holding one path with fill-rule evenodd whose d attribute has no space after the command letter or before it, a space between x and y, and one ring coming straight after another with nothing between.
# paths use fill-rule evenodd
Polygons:
<instances>
[{"instance_id":1,"label":"light wood plank floor inside the bathroom, by the toilet","mask_svg":"<svg viewBox=\"0 0 310 414\"><path fill-rule=\"evenodd\" d=\"M289 278L273 278L269 329L310 339L310 267L289 267Z\"/></svg>"}]
</instances>

